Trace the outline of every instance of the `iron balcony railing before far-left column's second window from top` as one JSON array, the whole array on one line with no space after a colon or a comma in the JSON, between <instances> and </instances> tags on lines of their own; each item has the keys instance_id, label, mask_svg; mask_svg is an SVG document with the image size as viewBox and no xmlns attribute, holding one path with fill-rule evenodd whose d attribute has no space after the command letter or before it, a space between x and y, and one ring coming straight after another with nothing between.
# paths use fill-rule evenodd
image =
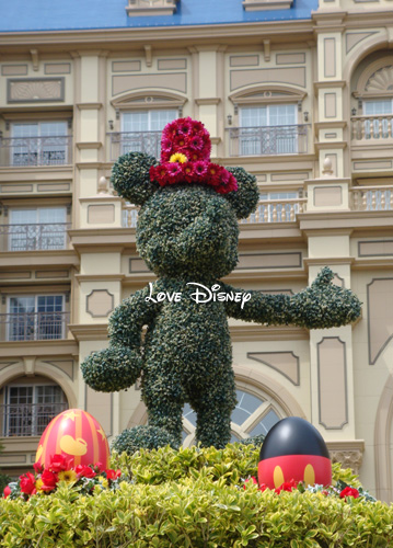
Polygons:
<instances>
[{"instance_id":1,"label":"iron balcony railing before far-left column's second window from top","mask_svg":"<svg viewBox=\"0 0 393 548\"><path fill-rule=\"evenodd\" d=\"M69 228L69 222L0 225L0 251L66 249Z\"/></svg>"}]
</instances>

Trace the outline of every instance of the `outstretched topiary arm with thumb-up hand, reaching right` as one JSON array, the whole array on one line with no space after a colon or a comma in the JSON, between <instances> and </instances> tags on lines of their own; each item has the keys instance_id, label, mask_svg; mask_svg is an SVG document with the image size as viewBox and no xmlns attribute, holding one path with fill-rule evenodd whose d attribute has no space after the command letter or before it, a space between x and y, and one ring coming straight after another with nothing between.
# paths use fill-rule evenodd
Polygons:
<instances>
[{"instance_id":1,"label":"outstretched topiary arm with thumb-up hand, reaching right","mask_svg":"<svg viewBox=\"0 0 393 548\"><path fill-rule=\"evenodd\" d=\"M227 313L232 318L268 324L293 324L308 329L325 329L346 326L360 316L361 302L349 289L331 282L333 272L325 266L310 287L296 295L266 295L250 293L247 302L226 302ZM240 292L224 285L224 290Z\"/></svg>"}]
</instances>

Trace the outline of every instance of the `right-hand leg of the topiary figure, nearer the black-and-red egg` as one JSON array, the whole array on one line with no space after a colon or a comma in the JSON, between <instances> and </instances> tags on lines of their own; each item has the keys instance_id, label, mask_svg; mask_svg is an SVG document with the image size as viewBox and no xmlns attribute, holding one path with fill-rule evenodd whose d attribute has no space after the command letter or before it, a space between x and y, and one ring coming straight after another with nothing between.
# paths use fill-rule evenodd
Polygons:
<instances>
[{"instance_id":1,"label":"right-hand leg of the topiary figure, nearer the black-and-red egg","mask_svg":"<svg viewBox=\"0 0 393 548\"><path fill-rule=\"evenodd\" d=\"M231 414L236 404L233 370L218 374L190 404L197 413L197 441L204 447L224 447L231 439Z\"/></svg>"}]
</instances>

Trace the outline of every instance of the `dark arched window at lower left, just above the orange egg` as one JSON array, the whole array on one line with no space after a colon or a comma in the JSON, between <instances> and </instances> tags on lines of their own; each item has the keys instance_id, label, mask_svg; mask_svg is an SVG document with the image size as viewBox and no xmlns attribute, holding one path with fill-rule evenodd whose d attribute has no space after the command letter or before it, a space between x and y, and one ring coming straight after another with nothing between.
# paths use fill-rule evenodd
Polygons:
<instances>
[{"instance_id":1,"label":"dark arched window at lower left, just above the orange egg","mask_svg":"<svg viewBox=\"0 0 393 548\"><path fill-rule=\"evenodd\" d=\"M66 395L57 385L7 386L3 436L41 436L48 423L68 409Z\"/></svg>"}]
</instances>

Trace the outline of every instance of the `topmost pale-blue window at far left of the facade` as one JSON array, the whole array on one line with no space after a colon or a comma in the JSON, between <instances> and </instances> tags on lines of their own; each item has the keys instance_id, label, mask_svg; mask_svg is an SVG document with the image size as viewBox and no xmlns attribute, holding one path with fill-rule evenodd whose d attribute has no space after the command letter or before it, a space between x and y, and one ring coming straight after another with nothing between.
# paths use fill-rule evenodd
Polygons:
<instances>
[{"instance_id":1,"label":"topmost pale-blue window at far left of the facade","mask_svg":"<svg viewBox=\"0 0 393 548\"><path fill-rule=\"evenodd\" d=\"M12 124L12 165L62 165L68 156L67 122Z\"/></svg>"}]
</instances>

